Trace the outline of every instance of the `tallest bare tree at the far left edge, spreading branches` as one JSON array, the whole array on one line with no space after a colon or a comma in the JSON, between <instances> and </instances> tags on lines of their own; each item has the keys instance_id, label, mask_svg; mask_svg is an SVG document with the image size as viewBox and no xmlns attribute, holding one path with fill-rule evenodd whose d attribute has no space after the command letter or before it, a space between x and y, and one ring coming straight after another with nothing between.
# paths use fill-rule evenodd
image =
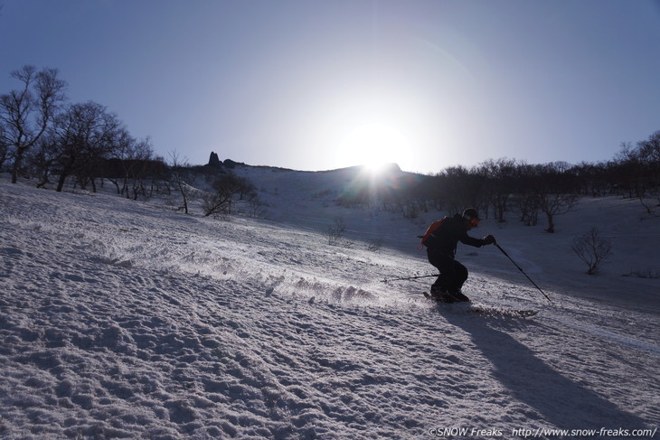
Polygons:
<instances>
[{"instance_id":1,"label":"tallest bare tree at the far left edge, spreading branches","mask_svg":"<svg viewBox=\"0 0 660 440\"><path fill-rule=\"evenodd\" d=\"M14 150L12 183L18 179L24 154L42 137L65 99L66 83L57 74L57 69L37 71L26 65L12 72L22 88L0 95L0 145Z\"/></svg>"}]
</instances>

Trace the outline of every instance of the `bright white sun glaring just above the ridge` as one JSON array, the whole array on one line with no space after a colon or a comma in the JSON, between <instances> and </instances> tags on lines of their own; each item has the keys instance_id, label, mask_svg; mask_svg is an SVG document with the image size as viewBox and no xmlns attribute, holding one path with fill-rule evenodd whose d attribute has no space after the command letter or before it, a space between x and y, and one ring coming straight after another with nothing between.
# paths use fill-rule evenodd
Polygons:
<instances>
[{"instance_id":1,"label":"bright white sun glaring just above the ridge","mask_svg":"<svg viewBox=\"0 0 660 440\"><path fill-rule=\"evenodd\" d=\"M399 163L410 152L410 143L400 130L378 122L355 126L339 145L342 162L363 165L376 173L386 164Z\"/></svg>"}]
</instances>

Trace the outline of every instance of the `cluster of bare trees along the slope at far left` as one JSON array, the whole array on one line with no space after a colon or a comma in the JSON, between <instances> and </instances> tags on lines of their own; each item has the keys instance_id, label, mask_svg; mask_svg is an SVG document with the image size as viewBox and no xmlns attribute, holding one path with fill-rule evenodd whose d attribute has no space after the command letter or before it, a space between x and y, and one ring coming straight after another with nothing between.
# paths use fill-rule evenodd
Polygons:
<instances>
[{"instance_id":1,"label":"cluster of bare trees along the slope at far left","mask_svg":"<svg viewBox=\"0 0 660 440\"><path fill-rule=\"evenodd\" d=\"M148 137L131 136L105 106L69 102L57 69L26 65L11 76L19 87L0 95L0 170L11 172L12 183L36 178L38 187L54 183L61 192L72 181L97 192L97 185L108 181L134 200L174 192L186 213L188 201L199 196L212 201L204 204L206 215L256 196L253 185L233 175L231 167L192 167L174 152L165 160L154 153ZM210 194L193 191L191 183L202 174L212 181Z\"/></svg>"}]
</instances>

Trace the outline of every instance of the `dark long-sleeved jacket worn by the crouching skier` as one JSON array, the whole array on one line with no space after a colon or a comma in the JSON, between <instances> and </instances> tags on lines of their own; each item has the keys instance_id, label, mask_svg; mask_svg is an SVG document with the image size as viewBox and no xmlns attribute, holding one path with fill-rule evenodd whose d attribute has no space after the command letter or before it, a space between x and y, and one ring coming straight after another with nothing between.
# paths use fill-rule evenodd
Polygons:
<instances>
[{"instance_id":1,"label":"dark long-sleeved jacket worn by the crouching skier","mask_svg":"<svg viewBox=\"0 0 660 440\"><path fill-rule=\"evenodd\" d=\"M467 235L465 219L460 214L434 221L421 238L429 254L450 258L456 255L458 241L476 248L486 245L483 239Z\"/></svg>"}]
</instances>

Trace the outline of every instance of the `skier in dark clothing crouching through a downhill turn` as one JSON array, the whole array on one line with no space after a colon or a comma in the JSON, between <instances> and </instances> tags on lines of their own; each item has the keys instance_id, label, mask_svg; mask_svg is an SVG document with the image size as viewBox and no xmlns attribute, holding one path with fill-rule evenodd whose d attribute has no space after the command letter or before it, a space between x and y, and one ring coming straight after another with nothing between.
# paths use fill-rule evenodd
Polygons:
<instances>
[{"instance_id":1,"label":"skier in dark clothing crouching through a downhill turn","mask_svg":"<svg viewBox=\"0 0 660 440\"><path fill-rule=\"evenodd\" d=\"M421 237L421 244L427 247L429 263L440 271L438 279L431 286L432 299L443 303L470 301L461 292L461 287L467 280L467 268L454 257L458 241L476 248L495 243L495 237L492 235L484 239L467 235L467 231L476 228L479 221L478 212L474 208L468 208L463 211L463 215L456 214L435 221Z\"/></svg>"}]
</instances>

